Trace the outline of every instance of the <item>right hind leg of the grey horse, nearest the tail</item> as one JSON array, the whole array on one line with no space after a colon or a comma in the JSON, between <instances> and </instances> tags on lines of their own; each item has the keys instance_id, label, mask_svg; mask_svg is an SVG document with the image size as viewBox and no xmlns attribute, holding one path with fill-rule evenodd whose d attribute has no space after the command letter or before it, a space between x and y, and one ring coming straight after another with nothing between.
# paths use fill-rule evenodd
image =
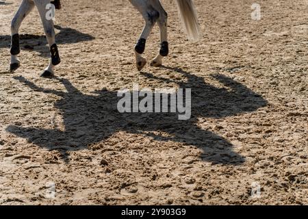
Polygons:
<instances>
[{"instance_id":1,"label":"right hind leg of the grey horse, nearest the tail","mask_svg":"<svg viewBox=\"0 0 308 219\"><path fill-rule=\"evenodd\" d=\"M159 25L160 30L160 50L158 55L151 61L151 66L161 66L163 57L166 57L169 53L167 31L168 14L159 0L153 0L152 5L153 8L159 12L157 24Z\"/></svg>"}]
</instances>

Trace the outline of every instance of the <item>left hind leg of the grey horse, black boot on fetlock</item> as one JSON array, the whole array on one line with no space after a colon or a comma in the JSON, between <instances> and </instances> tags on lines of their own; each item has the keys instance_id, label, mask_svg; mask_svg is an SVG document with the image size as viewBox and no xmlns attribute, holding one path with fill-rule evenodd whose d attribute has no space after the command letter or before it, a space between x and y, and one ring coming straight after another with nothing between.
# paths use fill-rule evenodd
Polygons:
<instances>
[{"instance_id":1,"label":"left hind leg of the grey horse, black boot on fetlock","mask_svg":"<svg viewBox=\"0 0 308 219\"><path fill-rule=\"evenodd\" d=\"M159 13L155 10L150 3L150 0L129 0L131 3L139 10L145 20L145 26L140 35L140 38L135 46L135 55L136 55L136 66L138 70L142 70L142 68L146 64L146 59L142 57L142 53L144 53L146 39L151 34L151 30L153 29L157 18L159 17Z\"/></svg>"}]
</instances>

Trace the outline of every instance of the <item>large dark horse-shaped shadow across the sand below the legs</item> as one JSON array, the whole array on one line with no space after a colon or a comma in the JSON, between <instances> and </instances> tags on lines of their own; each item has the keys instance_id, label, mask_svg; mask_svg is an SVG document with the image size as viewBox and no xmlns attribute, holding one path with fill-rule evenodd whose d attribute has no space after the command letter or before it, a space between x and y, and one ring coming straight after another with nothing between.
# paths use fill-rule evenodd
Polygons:
<instances>
[{"instance_id":1,"label":"large dark horse-shaped shadow across the sand below the legs","mask_svg":"<svg viewBox=\"0 0 308 219\"><path fill-rule=\"evenodd\" d=\"M225 75L211 75L227 88L217 88L205 82L203 77L185 72L181 68L168 68L183 75L187 81L179 82L179 88L192 88L192 117L178 120L173 113L123 113L117 110L120 100L117 92L101 90L94 95L83 94L67 79L55 77L67 92L39 88L24 77L15 77L36 92L55 94L61 99L55 102L60 110L65 131L10 125L6 131L25 138L37 146L50 150L68 152L88 149L88 145L107 140L118 131L140 133L157 141L181 142L196 146L201 159L212 164L240 165L245 158L233 151L233 145L212 131L198 127L198 118L224 118L237 114L254 112L267 105L267 101L246 86ZM145 79L169 80L141 73ZM167 133L162 134L162 133Z\"/></svg>"}]
</instances>

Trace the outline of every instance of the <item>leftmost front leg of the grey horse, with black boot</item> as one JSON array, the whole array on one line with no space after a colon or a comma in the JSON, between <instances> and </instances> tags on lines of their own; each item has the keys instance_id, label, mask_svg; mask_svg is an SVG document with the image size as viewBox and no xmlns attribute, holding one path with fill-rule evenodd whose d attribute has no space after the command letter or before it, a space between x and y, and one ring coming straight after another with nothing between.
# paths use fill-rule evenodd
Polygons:
<instances>
[{"instance_id":1,"label":"leftmost front leg of the grey horse, with black boot","mask_svg":"<svg viewBox=\"0 0 308 219\"><path fill-rule=\"evenodd\" d=\"M17 55L21 53L21 49L19 47L19 28L21 27L21 23L25 19L25 17L31 12L34 8L34 3L31 0L23 0L21 2L21 6L16 12L12 24L11 24L11 62L10 62L10 72L13 73L19 66L21 66L21 62L17 59Z\"/></svg>"}]
</instances>

